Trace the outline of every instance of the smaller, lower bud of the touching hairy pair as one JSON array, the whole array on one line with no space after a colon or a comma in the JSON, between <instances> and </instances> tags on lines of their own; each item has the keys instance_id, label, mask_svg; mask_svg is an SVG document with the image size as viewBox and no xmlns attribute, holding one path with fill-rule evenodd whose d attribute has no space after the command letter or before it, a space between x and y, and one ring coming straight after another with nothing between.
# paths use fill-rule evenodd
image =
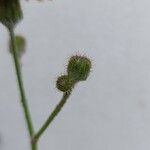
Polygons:
<instances>
[{"instance_id":1,"label":"smaller, lower bud of the touching hairy pair","mask_svg":"<svg viewBox=\"0 0 150 150\"><path fill-rule=\"evenodd\" d=\"M70 91L74 86L74 80L67 75L58 77L56 87L62 92Z\"/></svg>"}]
</instances>

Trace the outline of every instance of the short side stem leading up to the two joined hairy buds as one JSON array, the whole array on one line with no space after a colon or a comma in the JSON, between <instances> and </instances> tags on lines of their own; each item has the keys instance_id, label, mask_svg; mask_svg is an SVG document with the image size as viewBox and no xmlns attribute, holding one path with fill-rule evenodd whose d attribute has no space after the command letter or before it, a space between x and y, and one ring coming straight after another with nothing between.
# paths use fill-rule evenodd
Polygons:
<instances>
[{"instance_id":1,"label":"short side stem leading up to the two joined hairy buds","mask_svg":"<svg viewBox=\"0 0 150 150\"><path fill-rule=\"evenodd\" d=\"M63 97L61 99L61 101L58 103L58 105L55 107L55 109L53 110L53 112L50 114L50 116L48 117L48 119L45 121L45 123L43 124L43 126L40 128L40 130L34 135L32 142L33 143L37 143L37 141L39 140L39 138L41 137L41 135L45 132L45 130L48 128L48 126L51 124L51 122L54 120L54 118L58 115L58 113L61 111L62 107L64 106L64 104L66 103L67 99L69 98L71 94L71 91L69 92L65 92L63 94Z\"/></svg>"}]
</instances>

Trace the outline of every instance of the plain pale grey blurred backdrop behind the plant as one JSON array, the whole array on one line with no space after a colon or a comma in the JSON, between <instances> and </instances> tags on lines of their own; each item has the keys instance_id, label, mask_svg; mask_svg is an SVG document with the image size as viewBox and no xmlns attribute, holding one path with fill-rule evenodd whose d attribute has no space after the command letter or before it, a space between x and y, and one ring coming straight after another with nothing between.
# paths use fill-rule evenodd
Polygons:
<instances>
[{"instance_id":1,"label":"plain pale grey blurred backdrop behind the plant","mask_svg":"<svg viewBox=\"0 0 150 150\"><path fill-rule=\"evenodd\" d=\"M26 94L38 130L62 93L73 54L93 69L39 142L39 150L150 149L150 1L22 0ZM0 150L29 150L8 33L0 25Z\"/></svg>"}]
</instances>

